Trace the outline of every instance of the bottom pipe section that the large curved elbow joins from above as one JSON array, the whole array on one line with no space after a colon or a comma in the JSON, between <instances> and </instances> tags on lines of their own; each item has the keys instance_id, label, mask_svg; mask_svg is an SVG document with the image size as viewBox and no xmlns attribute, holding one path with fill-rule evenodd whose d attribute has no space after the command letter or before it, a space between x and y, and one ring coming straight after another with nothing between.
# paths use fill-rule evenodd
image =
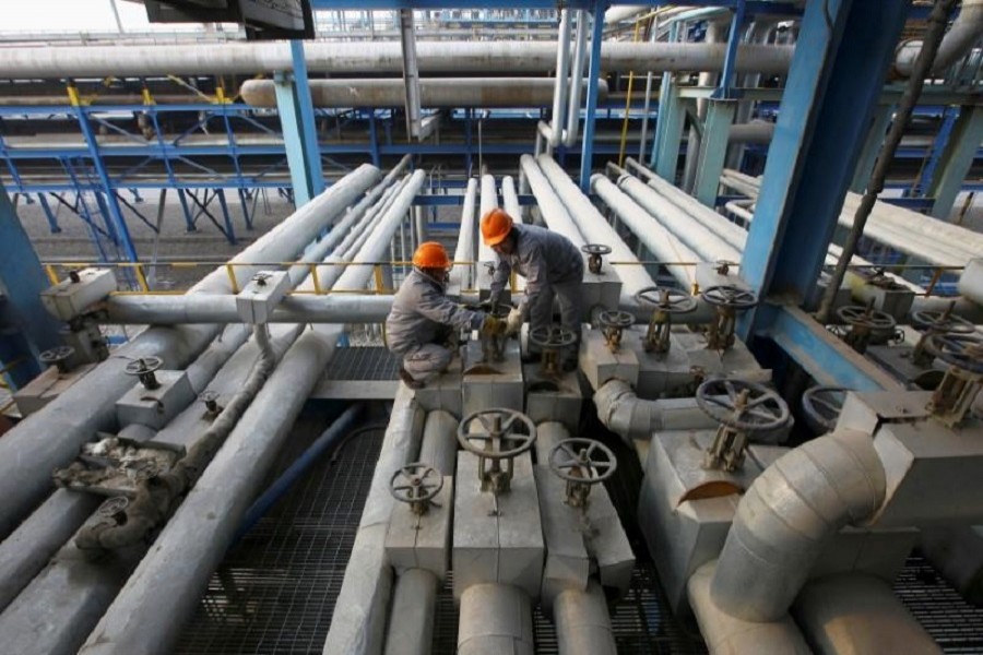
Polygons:
<instances>
[{"instance_id":1,"label":"bottom pipe section that the large curved elbow joins from above","mask_svg":"<svg viewBox=\"0 0 983 655\"><path fill-rule=\"evenodd\" d=\"M700 626L707 647L714 655L813 655L792 617L772 622L743 621L719 608L710 593L720 564L707 562L686 584L689 605Z\"/></svg>"}]
</instances>

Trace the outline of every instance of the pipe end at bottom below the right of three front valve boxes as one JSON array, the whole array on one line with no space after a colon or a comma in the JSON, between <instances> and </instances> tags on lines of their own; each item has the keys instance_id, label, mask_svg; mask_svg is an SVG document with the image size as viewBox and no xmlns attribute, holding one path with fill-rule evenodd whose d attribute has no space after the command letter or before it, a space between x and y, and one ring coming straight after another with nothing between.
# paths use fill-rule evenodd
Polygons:
<instances>
[{"instance_id":1,"label":"pipe end at bottom below the right of three front valve boxes","mask_svg":"<svg viewBox=\"0 0 983 655\"><path fill-rule=\"evenodd\" d=\"M617 655L604 590L596 581L587 591L567 590L553 602L553 621L564 655Z\"/></svg>"}]
</instances>

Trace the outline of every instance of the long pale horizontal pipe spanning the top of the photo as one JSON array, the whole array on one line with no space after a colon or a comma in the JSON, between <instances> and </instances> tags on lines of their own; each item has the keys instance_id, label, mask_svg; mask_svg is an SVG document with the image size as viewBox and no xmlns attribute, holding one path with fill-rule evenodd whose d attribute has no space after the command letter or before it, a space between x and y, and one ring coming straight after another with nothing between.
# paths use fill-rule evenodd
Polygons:
<instances>
[{"instance_id":1,"label":"long pale horizontal pipe spanning the top of the photo","mask_svg":"<svg viewBox=\"0 0 983 655\"><path fill-rule=\"evenodd\" d=\"M557 41L421 41L421 73L513 71L545 73L556 66ZM736 71L783 74L792 63L791 46L738 47ZM615 43L601 47L601 70L720 71L726 44ZM401 73L403 56L399 41L307 44L309 72L331 74ZM83 46L8 48L0 61L0 78L153 76L166 74L257 74L293 70L286 43Z\"/></svg>"}]
</instances>

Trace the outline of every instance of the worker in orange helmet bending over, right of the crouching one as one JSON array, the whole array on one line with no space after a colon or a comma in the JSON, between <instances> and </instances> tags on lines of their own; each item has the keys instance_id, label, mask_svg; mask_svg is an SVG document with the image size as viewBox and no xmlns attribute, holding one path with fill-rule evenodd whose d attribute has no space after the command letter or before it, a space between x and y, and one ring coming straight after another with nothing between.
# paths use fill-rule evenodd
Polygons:
<instances>
[{"instance_id":1,"label":"worker in orange helmet bending over, right of the crouching one","mask_svg":"<svg viewBox=\"0 0 983 655\"><path fill-rule=\"evenodd\" d=\"M562 355L565 370L577 368L580 343L581 285L583 257L562 235L534 225L512 221L507 212L494 209L482 217L485 245L498 254L492 277L492 306L501 298L512 271L525 277L525 297L509 312L507 333L518 332L528 319L530 330L553 323L553 299L557 299L560 324L571 331L576 342Z\"/></svg>"}]
</instances>

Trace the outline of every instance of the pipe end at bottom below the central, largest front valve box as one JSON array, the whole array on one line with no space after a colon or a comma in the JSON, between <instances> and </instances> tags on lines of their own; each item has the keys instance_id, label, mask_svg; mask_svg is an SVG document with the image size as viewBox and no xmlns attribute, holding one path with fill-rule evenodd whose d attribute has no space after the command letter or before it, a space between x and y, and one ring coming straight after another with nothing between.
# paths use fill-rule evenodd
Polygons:
<instances>
[{"instance_id":1,"label":"pipe end at bottom below the central, largest front valve box","mask_svg":"<svg viewBox=\"0 0 983 655\"><path fill-rule=\"evenodd\" d=\"M461 596L458 655L533 655L532 605L509 584L475 584Z\"/></svg>"}]
</instances>

